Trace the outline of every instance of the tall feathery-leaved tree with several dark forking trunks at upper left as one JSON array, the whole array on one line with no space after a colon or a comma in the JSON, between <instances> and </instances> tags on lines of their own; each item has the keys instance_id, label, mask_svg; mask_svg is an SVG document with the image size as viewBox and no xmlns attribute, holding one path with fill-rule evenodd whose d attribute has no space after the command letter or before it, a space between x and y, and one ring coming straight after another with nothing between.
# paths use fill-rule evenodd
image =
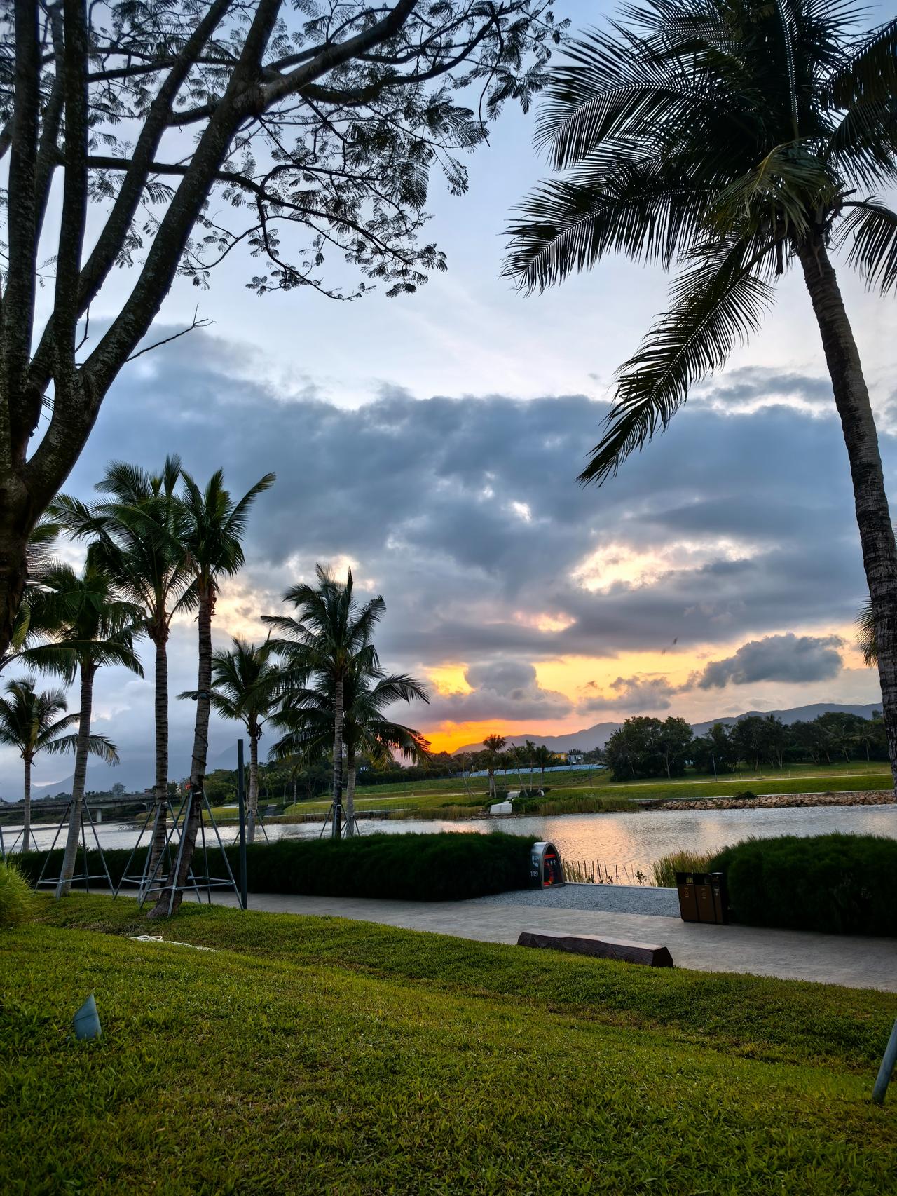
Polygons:
<instances>
[{"instance_id":1,"label":"tall feathery-leaved tree with several dark forking trunks at upper left","mask_svg":"<svg viewBox=\"0 0 897 1196\"><path fill-rule=\"evenodd\" d=\"M431 167L464 191L458 151L529 103L560 38L549 4L2 6L0 657L31 529L178 271L205 287L243 248L258 293L414 291L445 266L421 237ZM331 254L356 285L325 280ZM123 301L114 267L134 270ZM111 319L91 340L97 301Z\"/></svg>"}]
</instances>

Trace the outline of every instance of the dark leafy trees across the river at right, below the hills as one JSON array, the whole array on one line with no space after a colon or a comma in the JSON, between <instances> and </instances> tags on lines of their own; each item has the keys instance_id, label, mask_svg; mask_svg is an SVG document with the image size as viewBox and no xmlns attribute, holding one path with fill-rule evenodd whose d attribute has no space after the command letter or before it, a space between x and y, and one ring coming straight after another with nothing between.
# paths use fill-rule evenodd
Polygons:
<instances>
[{"instance_id":1,"label":"dark leafy trees across the river at right, below the hills","mask_svg":"<svg viewBox=\"0 0 897 1196\"><path fill-rule=\"evenodd\" d=\"M615 781L636 777L722 775L740 765L785 768L787 764L832 764L836 761L889 759L887 731L881 715L826 712L812 721L786 725L775 715L751 714L738 722L715 722L695 736L685 719L637 715L627 719L604 748Z\"/></svg>"}]
</instances>

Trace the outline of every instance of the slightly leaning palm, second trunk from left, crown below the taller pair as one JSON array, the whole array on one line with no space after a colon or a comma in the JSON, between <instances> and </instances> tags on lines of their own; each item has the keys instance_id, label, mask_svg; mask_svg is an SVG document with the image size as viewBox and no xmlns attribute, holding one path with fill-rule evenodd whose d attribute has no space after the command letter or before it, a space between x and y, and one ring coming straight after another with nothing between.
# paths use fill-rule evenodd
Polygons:
<instances>
[{"instance_id":1,"label":"slightly leaning palm, second trunk from left, crown below the taller pair","mask_svg":"<svg viewBox=\"0 0 897 1196\"><path fill-rule=\"evenodd\" d=\"M42 575L42 612L44 617L49 616L54 630L47 633L51 636L48 642L22 653L30 667L55 672L69 685L77 678L80 679L81 708L72 807L56 897L69 891L74 875L87 780L87 755L91 742L98 742L98 737L91 736L97 670L102 665L122 665L139 677L144 676L144 669L134 652L134 636L144 630L142 611L134 603L122 602L116 596L112 579L94 557L94 553L87 554L80 574L68 565L55 565Z\"/></svg>"}]
</instances>

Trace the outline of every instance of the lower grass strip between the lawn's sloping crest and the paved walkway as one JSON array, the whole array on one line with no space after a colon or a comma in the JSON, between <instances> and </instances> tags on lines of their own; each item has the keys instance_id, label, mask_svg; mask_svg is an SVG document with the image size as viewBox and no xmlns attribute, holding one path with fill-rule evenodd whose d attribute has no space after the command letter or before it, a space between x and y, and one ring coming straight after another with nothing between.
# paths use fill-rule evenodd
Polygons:
<instances>
[{"instance_id":1,"label":"lower grass strip between the lawn's sloping crest and the paved walkway","mask_svg":"<svg viewBox=\"0 0 897 1196\"><path fill-rule=\"evenodd\" d=\"M328 966L444 993L507 1000L605 1025L663 1027L732 1056L877 1066L897 994L688 969L649 969L338 917L184 904L147 922L133 898L35 898L44 926L196 946L303 966Z\"/></svg>"}]
</instances>

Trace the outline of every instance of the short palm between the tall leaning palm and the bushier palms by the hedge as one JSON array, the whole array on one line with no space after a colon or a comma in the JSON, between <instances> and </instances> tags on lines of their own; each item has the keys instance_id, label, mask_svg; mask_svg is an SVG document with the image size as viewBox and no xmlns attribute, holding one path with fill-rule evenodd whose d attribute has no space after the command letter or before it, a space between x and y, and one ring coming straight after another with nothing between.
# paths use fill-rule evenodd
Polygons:
<instances>
[{"instance_id":1,"label":"short palm between the tall leaning palm and the bushier palms by the hedge","mask_svg":"<svg viewBox=\"0 0 897 1196\"><path fill-rule=\"evenodd\" d=\"M242 722L249 736L246 841L250 843L255 842L258 818L258 740L277 702L280 671L271 654L270 640L255 645L237 637L230 649L220 648L212 654L212 709L222 719ZM194 700L196 696L195 690L178 694Z\"/></svg>"}]
</instances>

